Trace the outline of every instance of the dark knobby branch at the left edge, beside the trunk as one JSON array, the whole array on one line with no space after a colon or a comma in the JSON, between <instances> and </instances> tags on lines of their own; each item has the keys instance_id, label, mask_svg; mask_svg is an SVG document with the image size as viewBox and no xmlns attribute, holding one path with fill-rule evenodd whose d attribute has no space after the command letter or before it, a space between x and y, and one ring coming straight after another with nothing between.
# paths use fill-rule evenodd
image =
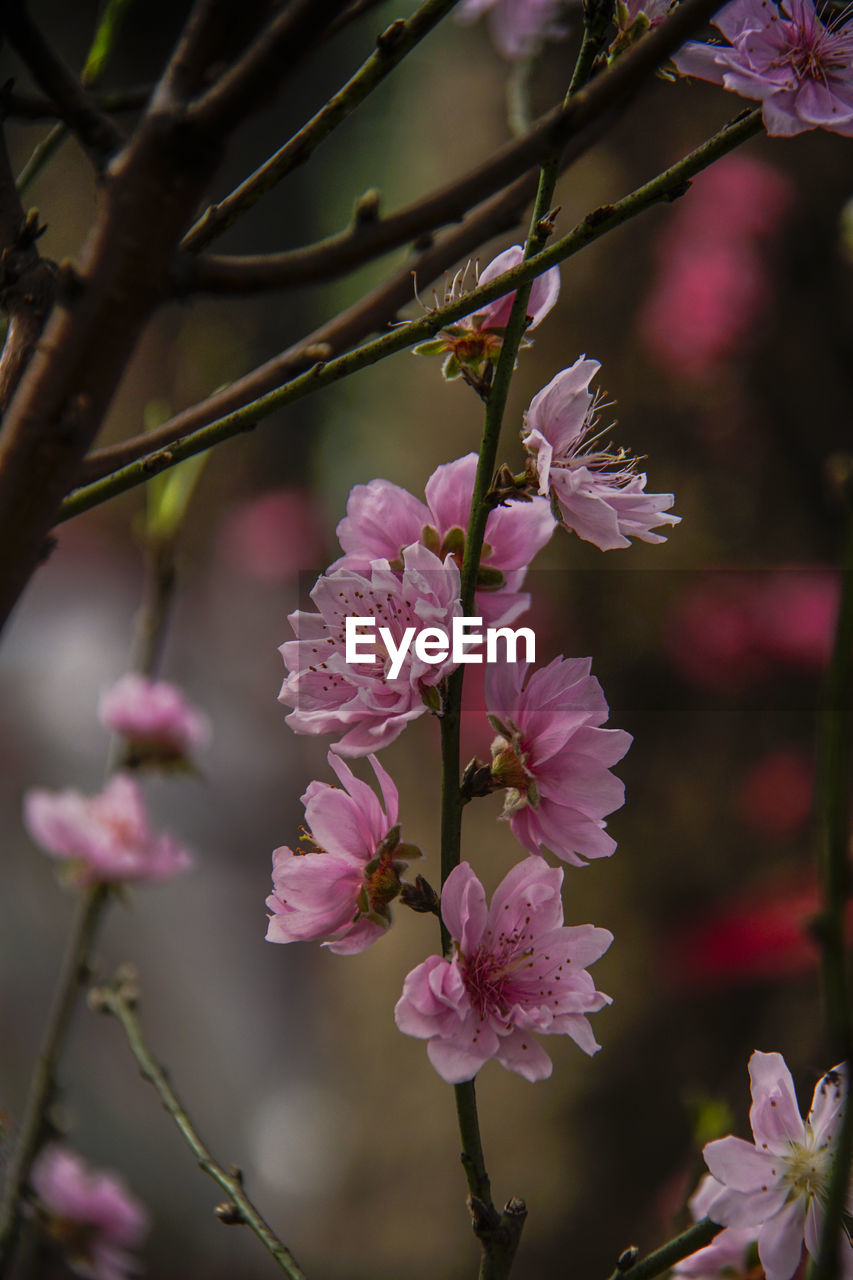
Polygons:
<instances>
[{"instance_id":1,"label":"dark knobby branch at the left edge, beside the trunk","mask_svg":"<svg viewBox=\"0 0 853 1280\"><path fill-rule=\"evenodd\" d=\"M35 212L35 211L33 211ZM0 355L0 417L5 413L54 302L53 262L36 248L38 218L27 216L0 131L0 305L9 316Z\"/></svg>"}]
</instances>

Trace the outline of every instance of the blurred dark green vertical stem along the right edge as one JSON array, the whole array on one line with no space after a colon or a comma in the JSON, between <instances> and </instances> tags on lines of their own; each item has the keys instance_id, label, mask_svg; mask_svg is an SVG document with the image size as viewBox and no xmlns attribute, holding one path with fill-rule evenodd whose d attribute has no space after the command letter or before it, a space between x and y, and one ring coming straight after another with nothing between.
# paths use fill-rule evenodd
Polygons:
<instances>
[{"instance_id":1,"label":"blurred dark green vertical stem along the right edge","mask_svg":"<svg viewBox=\"0 0 853 1280\"><path fill-rule=\"evenodd\" d=\"M848 477L849 488L849 477ZM820 870L824 909L815 922L830 1061L852 1065L853 1033L844 914L850 895L850 700L853 696L853 504L847 497L841 599L818 728ZM849 1091L849 1084L848 1084ZM812 1280L833 1280L853 1158L853 1107L845 1107Z\"/></svg>"}]
</instances>

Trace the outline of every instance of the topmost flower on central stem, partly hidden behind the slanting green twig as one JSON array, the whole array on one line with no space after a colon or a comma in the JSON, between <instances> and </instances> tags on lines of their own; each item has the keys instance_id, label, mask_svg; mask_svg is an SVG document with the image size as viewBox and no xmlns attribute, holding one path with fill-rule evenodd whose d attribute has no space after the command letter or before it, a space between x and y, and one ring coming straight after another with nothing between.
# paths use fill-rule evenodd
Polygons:
<instances>
[{"instance_id":1,"label":"topmost flower on central stem, partly hidden behind the slanting green twig","mask_svg":"<svg viewBox=\"0 0 853 1280\"><path fill-rule=\"evenodd\" d=\"M523 259L524 250L520 244L505 248L502 253L492 259L479 276L478 284L491 284L492 280L497 280L505 271L510 271L514 266L517 266ZM456 302L465 296L466 274L467 268L456 274L446 292L446 303ZM526 308L526 333L535 329L544 320L558 297L560 268L552 266L533 282ZM491 385L493 366L503 346L503 333L514 302L515 289L496 298L494 302L488 302L479 311L473 311L462 320L448 325L435 338L420 343L412 351L416 356L444 356L442 365L444 378L464 378L478 390L485 392ZM526 344L525 340L521 342L521 347Z\"/></svg>"}]
</instances>

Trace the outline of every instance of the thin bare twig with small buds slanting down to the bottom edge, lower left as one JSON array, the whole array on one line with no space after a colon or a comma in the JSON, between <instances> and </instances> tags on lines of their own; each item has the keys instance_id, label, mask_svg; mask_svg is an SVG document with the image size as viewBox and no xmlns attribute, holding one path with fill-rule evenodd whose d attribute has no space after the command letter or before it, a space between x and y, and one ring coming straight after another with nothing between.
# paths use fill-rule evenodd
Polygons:
<instances>
[{"instance_id":1,"label":"thin bare twig with small buds slanting down to the bottom edge, lower left","mask_svg":"<svg viewBox=\"0 0 853 1280\"><path fill-rule=\"evenodd\" d=\"M113 1014L120 1023L124 1034L127 1036L131 1052L138 1064L140 1074L156 1089L164 1108L174 1120L183 1140L199 1161L199 1167L207 1174L209 1178L213 1178L213 1180L228 1197L229 1204L223 1207L220 1217L232 1224L242 1222L248 1226L268 1253L270 1253L275 1260L280 1270L288 1275L291 1280L306 1280L305 1272L291 1251L282 1243L282 1240L279 1240L272 1226L269 1226L269 1224L261 1217L243 1190L243 1180L240 1171L232 1167L231 1172L225 1172L223 1166L211 1156L210 1151L199 1137L199 1130L187 1115L187 1111L177 1093L169 1084L167 1073L159 1062L155 1061L146 1044L142 1034L142 1027L140 1025L140 1020L133 1009L132 997L123 992L120 987L99 988L92 995L97 1006L106 1012ZM293 1158L297 1158L296 1153L293 1153ZM229 1212L231 1210L234 1210L234 1212Z\"/></svg>"}]
</instances>

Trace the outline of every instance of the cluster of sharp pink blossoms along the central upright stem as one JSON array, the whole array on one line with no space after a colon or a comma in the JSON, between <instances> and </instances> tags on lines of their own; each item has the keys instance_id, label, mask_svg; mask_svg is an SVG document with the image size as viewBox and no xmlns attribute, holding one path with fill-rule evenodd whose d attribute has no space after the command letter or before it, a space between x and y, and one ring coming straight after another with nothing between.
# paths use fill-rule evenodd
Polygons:
<instances>
[{"instance_id":1,"label":"cluster of sharp pink blossoms along the central upright stem","mask_svg":"<svg viewBox=\"0 0 853 1280\"><path fill-rule=\"evenodd\" d=\"M520 246L500 253L480 283L521 256ZM556 271L538 278L528 328L548 314L558 289ZM443 353L446 376L462 375L488 397L514 298L473 312L423 353ZM647 493L635 460L602 443L601 396L589 390L598 367L580 357L534 397L524 417L526 470L496 490L475 579L478 616L494 626L529 608L525 576L557 524L611 550L631 539L660 543L653 530L678 522L669 513L672 495ZM314 608L289 618L295 639L280 646L279 700L296 732L333 736L328 760L339 786L311 782L302 796L302 847L273 855L272 942L315 941L353 954L388 929L396 897L416 909L435 905L423 878L415 886L403 879L420 850L401 844L397 788L375 753L412 719L443 712L459 658L446 649L444 657L421 660L418 646L401 657L401 643L418 627L448 639L462 616L460 570L476 467L474 453L439 466L423 499L388 480L356 485L337 529L343 554L318 579ZM375 621L371 643L379 637L359 664L347 662L353 617ZM590 668L588 658L564 657L534 667L508 652L487 664L485 713L496 736L491 760L466 769L469 796L502 794L500 817L528 856L491 905L469 863L447 876L435 909L451 947L405 980L397 1025L428 1042L446 1080L467 1080L492 1057L529 1080L549 1075L551 1059L534 1033L567 1034L587 1053L598 1048L588 1016L610 1000L587 970L612 937L564 923L564 873L547 861L553 855L583 867L616 847L606 818L625 792L611 769L630 736L605 727L610 712ZM364 755L382 803L341 759Z\"/></svg>"}]
</instances>

